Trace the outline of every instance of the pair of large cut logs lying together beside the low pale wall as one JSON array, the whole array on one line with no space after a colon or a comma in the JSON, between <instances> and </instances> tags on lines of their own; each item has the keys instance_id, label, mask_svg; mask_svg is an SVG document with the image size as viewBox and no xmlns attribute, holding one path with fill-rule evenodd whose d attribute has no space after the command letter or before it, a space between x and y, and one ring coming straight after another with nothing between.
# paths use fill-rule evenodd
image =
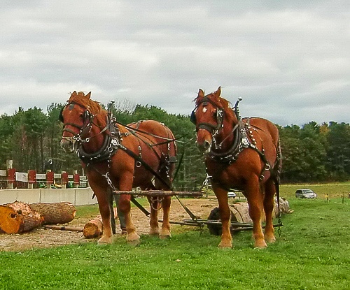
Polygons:
<instances>
[{"instance_id":1,"label":"pair of large cut logs lying together beside the low pale wall","mask_svg":"<svg viewBox=\"0 0 350 290\"><path fill-rule=\"evenodd\" d=\"M43 224L66 224L75 216L71 203L6 203L0 205L0 233L25 233Z\"/></svg>"}]
</instances>

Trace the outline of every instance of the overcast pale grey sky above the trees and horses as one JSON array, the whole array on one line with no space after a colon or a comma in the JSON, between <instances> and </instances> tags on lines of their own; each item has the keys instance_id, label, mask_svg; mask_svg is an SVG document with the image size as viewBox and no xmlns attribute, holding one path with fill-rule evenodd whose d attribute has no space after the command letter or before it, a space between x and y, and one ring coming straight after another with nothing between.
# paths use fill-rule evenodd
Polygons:
<instances>
[{"instance_id":1,"label":"overcast pale grey sky above the trees and horses","mask_svg":"<svg viewBox=\"0 0 350 290\"><path fill-rule=\"evenodd\" d=\"M188 115L350 122L350 1L0 0L0 115L92 92Z\"/></svg>"}]
</instances>

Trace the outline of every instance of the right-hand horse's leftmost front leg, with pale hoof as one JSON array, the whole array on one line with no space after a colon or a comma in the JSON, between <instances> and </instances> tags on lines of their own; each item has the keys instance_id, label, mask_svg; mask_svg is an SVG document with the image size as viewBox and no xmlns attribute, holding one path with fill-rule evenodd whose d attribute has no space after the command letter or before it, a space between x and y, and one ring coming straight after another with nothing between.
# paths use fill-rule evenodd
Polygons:
<instances>
[{"instance_id":1,"label":"right-hand horse's leftmost front leg, with pale hoof","mask_svg":"<svg viewBox=\"0 0 350 290\"><path fill-rule=\"evenodd\" d=\"M232 247L232 235L230 232L231 225L231 210L228 206L228 191L213 184L213 190L218 198L218 205L220 210L221 224L223 226L223 233L221 234L221 242L218 247Z\"/></svg>"}]
</instances>

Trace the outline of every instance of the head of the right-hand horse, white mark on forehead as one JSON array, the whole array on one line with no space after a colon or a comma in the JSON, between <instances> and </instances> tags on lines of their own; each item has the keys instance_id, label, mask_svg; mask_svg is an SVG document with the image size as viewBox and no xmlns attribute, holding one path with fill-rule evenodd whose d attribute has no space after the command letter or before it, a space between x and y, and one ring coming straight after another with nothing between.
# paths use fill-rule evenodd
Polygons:
<instances>
[{"instance_id":1,"label":"head of the right-hand horse, white mark on forehead","mask_svg":"<svg viewBox=\"0 0 350 290\"><path fill-rule=\"evenodd\" d=\"M200 89L195 99L195 109L191 114L191 122L196 125L197 147L200 152L209 153L215 137L221 131L228 101L221 99L221 87L216 92L204 96Z\"/></svg>"}]
</instances>

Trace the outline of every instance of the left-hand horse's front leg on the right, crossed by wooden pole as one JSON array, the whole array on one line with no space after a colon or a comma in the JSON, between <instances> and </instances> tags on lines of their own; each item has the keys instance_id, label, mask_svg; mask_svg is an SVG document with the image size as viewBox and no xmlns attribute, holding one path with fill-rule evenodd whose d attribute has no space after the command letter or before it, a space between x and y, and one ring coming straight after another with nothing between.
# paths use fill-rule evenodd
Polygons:
<instances>
[{"instance_id":1,"label":"left-hand horse's front leg on the right, crossed by wooden pole","mask_svg":"<svg viewBox=\"0 0 350 290\"><path fill-rule=\"evenodd\" d=\"M131 191L132 190L132 174L120 177L119 189L121 191ZM137 234L136 227L132 222L131 216L131 196L127 194L122 194L119 199L119 209L123 212L125 217L126 231L127 231L127 242L139 242L140 236Z\"/></svg>"}]
</instances>

